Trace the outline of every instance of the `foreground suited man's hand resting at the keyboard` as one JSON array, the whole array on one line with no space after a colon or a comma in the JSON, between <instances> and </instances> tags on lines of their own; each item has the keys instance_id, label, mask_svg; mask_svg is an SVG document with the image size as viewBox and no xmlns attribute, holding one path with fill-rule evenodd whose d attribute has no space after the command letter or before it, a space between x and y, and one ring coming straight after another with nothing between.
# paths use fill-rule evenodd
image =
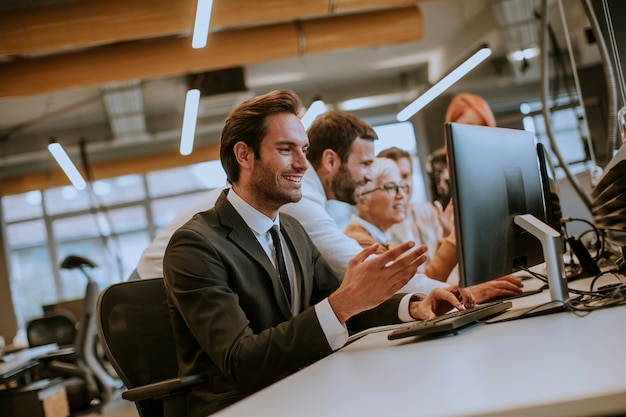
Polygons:
<instances>
[{"instance_id":1,"label":"foreground suited man's hand resting at the keyboard","mask_svg":"<svg viewBox=\"0 0 626 417\"><path fill-rule=\"evenodd\" d=\"M465 310L472 307L472 294L458 285L447 288L435 288L423 300L411 300L409 314L418 320L429 320L456 308Z\"/></svg>"}]
</instances>

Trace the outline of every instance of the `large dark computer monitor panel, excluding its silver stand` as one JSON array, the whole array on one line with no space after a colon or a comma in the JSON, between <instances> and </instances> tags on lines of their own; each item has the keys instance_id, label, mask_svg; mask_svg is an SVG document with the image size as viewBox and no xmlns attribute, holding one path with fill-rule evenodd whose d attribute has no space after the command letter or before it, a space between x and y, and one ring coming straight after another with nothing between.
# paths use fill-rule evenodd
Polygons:
<instances>
[{"instance_id":1,"label":"large dark computer monitor panel, excluding its silver stand","mask_svg":"<svg viewBox=\"0 0 626 417\"><path fill-rule=\"evenodd\" d=\"M519 214L546 221L534 135L447 123L446 144L460 285L543 262L541 242L514 223Z\"/></svg>"}]
</instances>

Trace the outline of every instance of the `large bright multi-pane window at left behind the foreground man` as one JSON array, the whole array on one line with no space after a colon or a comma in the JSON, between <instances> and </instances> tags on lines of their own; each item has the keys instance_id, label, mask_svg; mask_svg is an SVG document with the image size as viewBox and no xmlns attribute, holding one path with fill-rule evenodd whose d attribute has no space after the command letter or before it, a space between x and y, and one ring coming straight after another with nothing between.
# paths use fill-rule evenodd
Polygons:
<instances>
[{"instance_id":1,"label":"large bright multi-pane window at left behind the foreground man","mask_svg":"<svg viewBox=\"0 0 626 417\"><path fill-rule=\"evenodd\" d=\"M100 288L126 280L155 234L184 206L226 182L219 161L98 180L2 198L18 326L43 306L81 299L87 279L63 270L68 255L97 264L84 271Z\"/></svg>"}]
</instances>

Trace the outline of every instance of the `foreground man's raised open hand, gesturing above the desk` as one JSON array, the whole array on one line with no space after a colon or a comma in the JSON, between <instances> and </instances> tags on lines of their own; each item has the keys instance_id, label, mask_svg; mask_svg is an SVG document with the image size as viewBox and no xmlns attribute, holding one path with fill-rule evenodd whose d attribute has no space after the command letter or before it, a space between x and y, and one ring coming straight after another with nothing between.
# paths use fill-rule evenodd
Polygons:
<instances>
[{"instance_id":1,"label":"foreground man's raised open hand, gesturing above the desk","mask_svg":"<svg viewBox=\"0 0 626 417\"><path fill-rule=\"evenodd\" d=\"M348 262L348 269L339 288L328 302L341 323L394 295L426 262L426 246L411 250L414 242L405 242L387 252L367 259L378 244L364 249Z\"/></svg>"}]
</instances>

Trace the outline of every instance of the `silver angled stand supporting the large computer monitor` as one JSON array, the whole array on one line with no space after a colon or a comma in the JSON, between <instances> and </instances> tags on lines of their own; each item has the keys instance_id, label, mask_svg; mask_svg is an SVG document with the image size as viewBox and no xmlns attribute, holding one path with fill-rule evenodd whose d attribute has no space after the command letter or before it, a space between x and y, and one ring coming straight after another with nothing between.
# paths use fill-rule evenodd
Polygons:
<instances>
[{"instance_id":1,"label":"silver angled stand supporting the large computer monitor","mask_svg":"<svg viewBox=\"0 0 626 417\"><path fill-rule=\"evenodd\" d=\"M563 246L561 234L537 219L532 214L521 214L514 218L515 224L528 231L541 242L543 258L546 262L548 275L548 289L551 301L537 306L509 310L504 314L487 320L487 323L516 320L527 317L542 316L545 314L565 311L565 303L569 300L565 265L563 264Z\"/></svg>"}]
</instances>

